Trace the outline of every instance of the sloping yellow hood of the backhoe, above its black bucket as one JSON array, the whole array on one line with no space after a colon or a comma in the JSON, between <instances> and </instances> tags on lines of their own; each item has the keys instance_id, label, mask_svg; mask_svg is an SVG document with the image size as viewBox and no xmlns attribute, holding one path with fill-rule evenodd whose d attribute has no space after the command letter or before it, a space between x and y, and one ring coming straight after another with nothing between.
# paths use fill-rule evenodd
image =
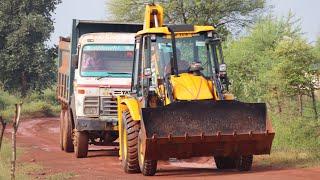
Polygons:
<instances>
[{"instance_id":1,"label":"sloping yellow hood of the backhoe, above its black bucket","mask_svg":"<svg viewBox=\"0 0 320 180\"><path fill-rule=\"evenodd\" d=\"M212 89L208 80L203 76L196 76L190 73L172 75L171 83L173 96L178 100L204 100L213 99Z\"/></svg>"}]
</instances>

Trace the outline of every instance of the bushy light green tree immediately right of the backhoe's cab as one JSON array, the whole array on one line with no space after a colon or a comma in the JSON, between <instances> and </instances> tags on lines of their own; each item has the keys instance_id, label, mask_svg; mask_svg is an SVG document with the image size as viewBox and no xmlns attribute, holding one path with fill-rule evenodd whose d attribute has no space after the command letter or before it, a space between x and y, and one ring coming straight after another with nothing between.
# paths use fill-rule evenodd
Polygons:
<instances>
[{"instance_id":1,"label":"bushy light green tree immediately right of the backhoe's cab","mask_svg":"<svg viewBox=\"0 0 320 180\"><path fill-rule=\"evenodd\" d=\"M279 61L273 54L283 37L295 38L300 35L293 19L292 15L284 20L276 20L271 16L262 18L248 30L247 36L226 43L225 56L232 92L239 99L256 102L281 97L278 86L281 79L273 70ZM281 102L281 99L277 100Z\"/></svg>"}]
</instances>

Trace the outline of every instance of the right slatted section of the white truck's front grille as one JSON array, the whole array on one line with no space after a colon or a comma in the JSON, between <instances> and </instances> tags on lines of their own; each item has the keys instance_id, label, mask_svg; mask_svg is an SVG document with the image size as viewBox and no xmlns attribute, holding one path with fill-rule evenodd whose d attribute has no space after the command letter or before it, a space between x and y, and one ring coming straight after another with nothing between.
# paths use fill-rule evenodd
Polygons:
<instances>
[{"instance_id":1,"label":"right slatted section of the white truck's front grille","mask_svg":"<svg viewBox=\"0 0 320 180\"><path fill-rule=\"evenodd\" d=\"M117 98L101 97L100 115L117 117Z\"/></svg>"}]
</instances>

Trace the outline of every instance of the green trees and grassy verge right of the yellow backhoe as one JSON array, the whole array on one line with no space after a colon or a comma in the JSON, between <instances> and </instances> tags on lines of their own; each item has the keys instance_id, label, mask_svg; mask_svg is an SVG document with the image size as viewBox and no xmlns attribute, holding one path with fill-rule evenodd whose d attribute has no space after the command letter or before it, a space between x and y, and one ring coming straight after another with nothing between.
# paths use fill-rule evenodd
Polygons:
<instances>
[{"instance_id":1,"label":"green trees and grassy verge right of the yellow backhoe","mask_svg":"<svg viewBox=\"0 0 320 180\"><path fill-rule=\"evenodd\" d=\"M271 155L258 164L320 166L319 45L306 42L291 14L263 17L225 43L231 91L241 101L266 102L276 132Z\"/></svg>"}]
</instances>

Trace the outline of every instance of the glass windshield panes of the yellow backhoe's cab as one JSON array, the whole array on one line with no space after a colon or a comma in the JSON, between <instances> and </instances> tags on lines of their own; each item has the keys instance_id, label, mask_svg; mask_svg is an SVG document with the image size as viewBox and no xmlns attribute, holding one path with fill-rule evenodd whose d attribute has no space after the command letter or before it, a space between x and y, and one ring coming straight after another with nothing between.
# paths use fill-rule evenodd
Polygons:
<instances>
[{"instance_id":1,"label":"glass windshield panes of the yellow backhoe's cab","mask_svg":"<svg viewBox=\"0 0 320 180\"><path fill-rule=\"evenodd\" d=\"M216 73L219 59L222 58L219 50L220 43L206 43L206 34L197 34L190 37L176 37L176 51L178 73L189 71L191 63L201 63L201 73L205 77L212 77ZM157 37L151 45L151 61L157 60L156 69L160 77L171 74L172 40L168 36ZM216 61L216 62L215 62ZM151 64L154 64L151 63Z\"/></svg>"}]
</instances>

